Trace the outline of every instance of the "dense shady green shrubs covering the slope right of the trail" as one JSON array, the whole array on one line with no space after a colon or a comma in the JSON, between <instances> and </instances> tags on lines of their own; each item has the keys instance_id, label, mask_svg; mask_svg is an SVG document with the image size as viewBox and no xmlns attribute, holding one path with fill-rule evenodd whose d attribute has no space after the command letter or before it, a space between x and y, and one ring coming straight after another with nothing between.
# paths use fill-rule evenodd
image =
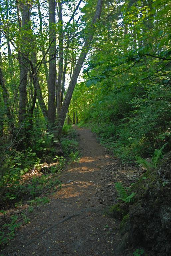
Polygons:
<instances>
[{"instance_id":1,"label":"dense shady green shrubs covering the slope right of the trail","mask_svg":"<svg viewBox=\"0 0 171 256\"><path fill-rule=\"evenodd\" d=\"M106 94L97 90L80 125L90 127L100 143L123 162L151 157L167 142L164 151L168 152L171 91L164 79L139 85L136 90L116 89Z\"/></svg>"}]
</instances>

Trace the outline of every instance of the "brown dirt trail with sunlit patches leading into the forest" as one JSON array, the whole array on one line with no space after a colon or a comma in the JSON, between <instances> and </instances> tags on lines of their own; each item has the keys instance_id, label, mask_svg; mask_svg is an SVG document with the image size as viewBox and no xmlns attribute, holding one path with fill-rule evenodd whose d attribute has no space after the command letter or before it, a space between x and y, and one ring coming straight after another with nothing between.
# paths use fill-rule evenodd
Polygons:
<instances>
[{"instance_id":1,"label":"brown dirt trail with sunlit patches leading into the forest","mask_svg":"<svg viewBox=\"0 0 171 256\"><path fill-rule=\"evenodd\" d=\"M112 159L89 130L76 126L75 129L80 137L80 162L63 172L62 189L50 196L50 203L34 209L29 216L31 222L17 232L11 246L2 252L4 255L114 255L117 223L102 212L93 212L113 203L109 201L110 195L103 193L109 182L104 179L104 167ZM87 212L37 237L65 216L86 208Z\"/></svg>"}]
</instances>

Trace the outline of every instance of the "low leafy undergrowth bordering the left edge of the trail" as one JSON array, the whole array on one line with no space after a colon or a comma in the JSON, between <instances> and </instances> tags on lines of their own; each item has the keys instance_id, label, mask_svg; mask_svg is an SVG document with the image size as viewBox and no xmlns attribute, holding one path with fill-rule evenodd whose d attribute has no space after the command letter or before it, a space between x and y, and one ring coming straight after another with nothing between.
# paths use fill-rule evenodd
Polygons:
<instances>
[{"instance_id":1,"label":"low leafy undergrowth bordering the left edge of the trail","mask_svg":"<svg viewBox=\"0 0 171 256\"><path fill-rule=\"evenodd\" d=\"M38 135L38 134L37 134ZM49 193L61 188L60 173L71 162L79 160L77 134L72 126L65 124L61 144L63 156L56 155L55 144L59 143L52 132L35 137L33 146L25 151L14 150L10 157L1 162L0 176L0 246L7 245L15 233L31 220L27 213L34 207L50 202ZM56 163L41 169L43 161ZM49 165L50 166L50 165ZM10 216L8 209L28 205L26 212ZM5 211L6 210L6 211Z\"/></svg>"}]
</instances>

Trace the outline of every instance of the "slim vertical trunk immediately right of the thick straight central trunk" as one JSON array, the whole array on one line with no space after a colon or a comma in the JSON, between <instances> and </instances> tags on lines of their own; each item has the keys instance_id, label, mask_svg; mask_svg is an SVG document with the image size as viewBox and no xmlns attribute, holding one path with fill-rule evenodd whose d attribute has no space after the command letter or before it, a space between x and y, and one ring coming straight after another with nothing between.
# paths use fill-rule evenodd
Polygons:
<instances>
[{"instance_id":1,"label":"slim vertical trunk immediately right of the thick straight central trunk","mask_svg":"<svg viewBox=\"0 0 171 256\"><path fill-rule=\"evenodd\" d=\"M58 69L58 82L57 82L57 113L59 115L61 110L61 93L62 93L62 73L63 73L63 20L62 20L62 3L58 1L58 18L59 18L59 69Z\"/></svg>"}]
</instances>

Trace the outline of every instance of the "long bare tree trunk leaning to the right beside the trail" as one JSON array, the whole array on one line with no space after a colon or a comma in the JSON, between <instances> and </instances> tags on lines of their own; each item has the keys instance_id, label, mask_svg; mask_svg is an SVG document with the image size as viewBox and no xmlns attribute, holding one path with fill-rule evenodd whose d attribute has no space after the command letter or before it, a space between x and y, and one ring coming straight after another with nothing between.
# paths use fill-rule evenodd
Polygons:
<instances>
[{"instance_id":1,"label":"long bare tree trunk leaning to the right beside the trail","mask_svg":"<svg viewBox=\"0 0 171 256\"><path fill-rule=\"evenodd\" d=\"M71 78L71 81L70 81L70 84L69 84L69 87L68 87L68 91L67 91L64 103L62 105L62 108L61 108L61 111L60 111L60 114L59 114L59 117L58 117L58 124L57 124L58 131L57 131L57 134L56 134L58 137L61 136L62 128L63 128L64 122L65 122L68 107L69 107L70 102L71 102L73 91L74 91L78 76L80 74L81 68L83 66L83 63L85 61L85 57L88 53L89 46L90 46L91 41L93 39L93 34L94 34L94 31L95 31L95 26L93 26L93 25L97 20L100 19L102 2L103 2L103 0L97 0L96 11L95 11L95 14L94 14L94 17L93 17L93 20L92 20L92 25L89 28L89 33L87 35L87 38L85 39L83 50L81 51L80 57L77 61L76 67L74 69L73 76Z\"/></svg>"}]
</instances>

